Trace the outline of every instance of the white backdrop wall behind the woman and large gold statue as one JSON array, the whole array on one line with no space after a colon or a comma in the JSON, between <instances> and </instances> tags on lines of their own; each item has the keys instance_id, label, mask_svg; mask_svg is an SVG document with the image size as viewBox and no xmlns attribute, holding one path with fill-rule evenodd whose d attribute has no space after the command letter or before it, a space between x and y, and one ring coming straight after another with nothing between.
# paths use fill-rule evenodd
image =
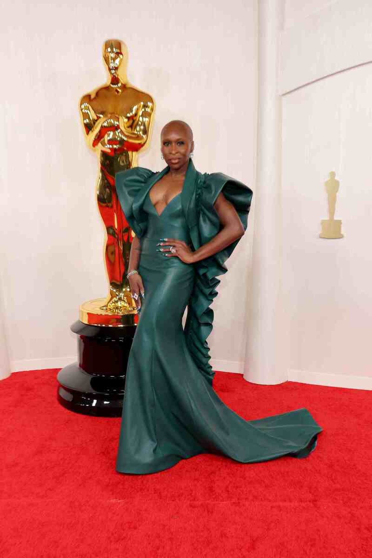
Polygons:
<instances>
[{"instance_id":1,"label":"white backdrop wall behind the woman and large gold statue","mask_svg":"<svg viewBox=\"0 0 372 558\"><path fill-rule=\"evenodd\" d=\"M151 146L139 164L162 168L160 130L190 123L194 162L253 189L257 6L254 0L62 4L15 0L2 11L0 214L4 322L12 371L76 360L71 323L81 302L107 294L96 156L78 102L107 79L105 39L124 40L128 78L156 100ZM238 131L238 133L237 133ZM228 262L209 341L216 369L244 359L249 230Z\"/></svg>"}]
</instances>

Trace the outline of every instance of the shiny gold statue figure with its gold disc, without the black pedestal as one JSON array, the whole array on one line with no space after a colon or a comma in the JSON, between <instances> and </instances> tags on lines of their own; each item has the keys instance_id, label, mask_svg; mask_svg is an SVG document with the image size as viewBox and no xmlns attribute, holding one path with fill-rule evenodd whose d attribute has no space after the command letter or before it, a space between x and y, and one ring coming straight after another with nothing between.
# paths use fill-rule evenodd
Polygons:
<instances>
[{"instance_id":1,"label":"shiny gold statue figure with its gold disc, without the black pedestal","mask_svg":"<svg viewBox=\"0 0 372 558\"><path fill-rule=\"evenodd\" d=\"M137 166L138 151L146 145L151 131L154 101L128 83L124 42L105 41L103 59L109 80L81 98L80 114L88 146L99 156L97 202L107 232L104 255L110 292L107 299L82 305L80 320L120 326L133 323L137 311L126 276L134 232L117 197L115 173Z\"/></svg>"}]
</instances>

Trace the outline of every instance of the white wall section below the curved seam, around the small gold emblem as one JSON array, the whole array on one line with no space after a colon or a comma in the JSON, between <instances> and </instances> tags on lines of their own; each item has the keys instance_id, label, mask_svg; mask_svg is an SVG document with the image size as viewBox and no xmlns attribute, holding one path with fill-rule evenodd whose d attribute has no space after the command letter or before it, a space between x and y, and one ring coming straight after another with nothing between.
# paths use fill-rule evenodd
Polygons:
<instances>
[{"instance_id":1,"label":"white wall section below the curved seam, around the small gold emblem","mask_svg":"<svg viewBox=\"0 0 372 558\"><path fill-rule=\"evenodd\" d=\"M291 378L372 377L371 90L369 64L283 98ZM320 219L328 217L323 182L330 171L340 181L335 218L342 219L345 237L337 240L318 237ZM359 380L360 387L372 387L371 380Z\"/></svg>"}]
</instances>

